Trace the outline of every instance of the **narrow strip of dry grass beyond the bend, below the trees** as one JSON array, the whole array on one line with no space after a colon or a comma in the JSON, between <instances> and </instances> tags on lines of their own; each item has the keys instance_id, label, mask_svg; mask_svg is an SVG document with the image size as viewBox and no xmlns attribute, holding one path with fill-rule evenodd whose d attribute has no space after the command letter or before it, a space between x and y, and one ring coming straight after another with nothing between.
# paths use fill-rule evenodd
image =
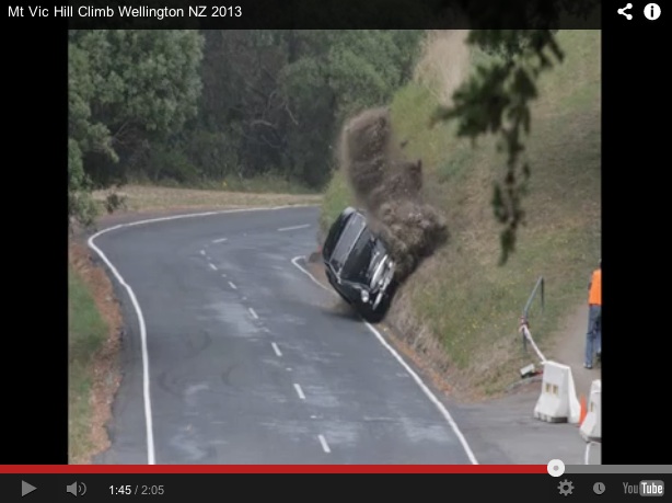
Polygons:
<instances>
[{"instance_id":1,"label":"narrow strip of dry grass beyond the bend, below the trees","mask_svg":"<svg viewBox=\"0 0 672 503\"><path fill-rule=\"evenodd\" d=\"M95 192L93 196L102 205L107 194L109 194L108 191L100 191ZM142 185L125 186L117 191L117 194L125 197L126 210L129 212L282 206L320 204L322 202L321 195L254 194Z\"/></svg>"}]
</instances>

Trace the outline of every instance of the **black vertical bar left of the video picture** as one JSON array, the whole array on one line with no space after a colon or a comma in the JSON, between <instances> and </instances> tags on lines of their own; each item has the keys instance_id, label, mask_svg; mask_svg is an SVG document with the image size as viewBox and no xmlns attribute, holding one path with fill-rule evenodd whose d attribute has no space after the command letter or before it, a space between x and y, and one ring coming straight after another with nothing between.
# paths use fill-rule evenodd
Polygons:
<instances>
[{"instance_id":1,"label":"black vertical bar left of the video picture","mask_svg":"<svg viewBox=\"0 0 672 503\"><path fill-rule=\"evenodd\" d=\"M35 27L13 31L3 79L3 248L15 262L4 263L0 464L18 465L68 462L68 36L65 21Z\"/></svg>"}]
</instances>

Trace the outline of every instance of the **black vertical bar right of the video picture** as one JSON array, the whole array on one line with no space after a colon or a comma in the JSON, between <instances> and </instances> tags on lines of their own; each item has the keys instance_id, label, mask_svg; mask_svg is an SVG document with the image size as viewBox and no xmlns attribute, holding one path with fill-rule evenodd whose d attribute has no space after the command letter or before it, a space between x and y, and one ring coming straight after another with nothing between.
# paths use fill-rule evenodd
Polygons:
<instances>
[{"instance_id":1,"label":"black vertical bar right of the video picture","mask_svg":"<svg viewBox=\"0 0 672 503\"><path fill-rule=\"evenodd\" d=\"M670 465L662 447L670 436L670 329L665 281L659 264L669 256L665 230L664 148L670 144L663 102L663 12L641 15L647 1L632 1L633 20L614 4L603 39L603 270L604 313L602 423L604 465ZM663 5L663 11L667 5ZM668 14L669 15L669 14ZM660 222L659 222L660 221ZM668 368L665 368L668 367Z\"/></svg>"}]
</instances>

